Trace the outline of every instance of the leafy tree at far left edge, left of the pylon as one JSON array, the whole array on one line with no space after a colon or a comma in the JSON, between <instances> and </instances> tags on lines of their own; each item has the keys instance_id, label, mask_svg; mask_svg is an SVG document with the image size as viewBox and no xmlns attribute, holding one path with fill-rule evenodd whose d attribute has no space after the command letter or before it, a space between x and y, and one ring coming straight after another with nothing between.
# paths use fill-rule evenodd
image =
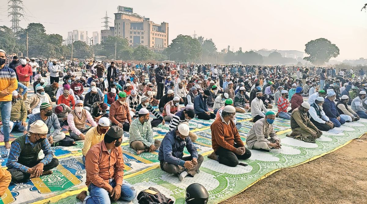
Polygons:
<instances>
[{"instance_id":1,"label":"leafy tree at far left edge, left of the pylon","mask_svg":"<svg viewBox=\"0 0 367 204\"><path fill-rule=\"evenodd\" d=\"M17 38L10 33L10 28L8 28L7 26L0 26L1 49L5 50L7 53L17 53L19 51Z\"/></svg>"}]
</instances>

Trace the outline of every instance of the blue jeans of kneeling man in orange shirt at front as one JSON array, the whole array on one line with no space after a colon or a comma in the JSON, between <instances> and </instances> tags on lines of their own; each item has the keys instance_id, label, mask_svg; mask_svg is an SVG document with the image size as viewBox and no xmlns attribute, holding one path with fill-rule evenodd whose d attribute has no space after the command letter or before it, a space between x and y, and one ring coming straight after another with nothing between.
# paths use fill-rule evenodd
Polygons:
<instances>
[{"instance_id":1,"label":"blue jeans of kneeling man in orange shirt at front","mask_svg":"<svg viewBox=\"0 0 367 204\"><path fill-rule=\"evenodd\" d=\"M116 182L114 179L109 180L109 184L112 187L116 186ZM84 201L86 201L86 204L110 204L110 195L107 192L107 190L95 186L93 183L91 183L88 187L89 196L87 196ZM125 201L132 201L136 197L137 192L134 189L134 187L126 182L123 181L121 186L121 197L119 200L125 200ZM84 203L84 202L83 202Z\"/></svg>"}]
</instances>

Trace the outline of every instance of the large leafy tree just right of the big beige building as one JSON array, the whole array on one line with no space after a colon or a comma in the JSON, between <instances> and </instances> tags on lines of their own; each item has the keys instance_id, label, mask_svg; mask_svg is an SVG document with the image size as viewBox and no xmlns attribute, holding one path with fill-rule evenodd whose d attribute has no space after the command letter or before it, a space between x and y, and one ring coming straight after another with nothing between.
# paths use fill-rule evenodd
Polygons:
<instances>
[{"instance_id":1,"label":"large leafy tree just right of the big beige building","mask_svg":"<svg viewBox=\"0 0 367 204\"><path fill-rule=\"evenodd\" d=\"M203 48L197 39L190 36L178 35L168 45L164 53L170 60L176 61L196 61L201 58Z\"/></svg>"}]
</instances>

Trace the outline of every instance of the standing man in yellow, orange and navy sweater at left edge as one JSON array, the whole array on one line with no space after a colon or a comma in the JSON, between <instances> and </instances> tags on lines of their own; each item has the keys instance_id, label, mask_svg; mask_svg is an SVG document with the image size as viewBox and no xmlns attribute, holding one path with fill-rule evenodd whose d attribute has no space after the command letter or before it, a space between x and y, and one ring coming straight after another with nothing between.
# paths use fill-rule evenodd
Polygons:
<instances>
[{"instance_id":1,"label":"standing man in yellow, orange and navy sweater at left edge","mask_svg":"<svg viewBox=\"0 0 367 204\"><path fill-rule=\"evenodd\" d=\"M4 144L10 149L10 112L12 92L18 88L17 75L6 64L6 52L0 49L0 111L3 122Z\"/></svg>"}]
</instances>

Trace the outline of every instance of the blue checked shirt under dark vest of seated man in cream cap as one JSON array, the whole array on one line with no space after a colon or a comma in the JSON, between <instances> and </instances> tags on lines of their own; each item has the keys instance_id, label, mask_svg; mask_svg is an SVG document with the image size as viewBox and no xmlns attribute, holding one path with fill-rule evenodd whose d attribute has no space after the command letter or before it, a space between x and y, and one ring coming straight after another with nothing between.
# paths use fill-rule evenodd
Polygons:
<instances>
[{"instance_id":1,"label":"blue checked shirt under dark vest of seated man in cream cap","mask_svg":"<svg viewBox=\"0 0 367 204\"><path fill-rule=\"evenodd\" d=\"M30 142L28 135L25 136L25 143L26 144L29 143L30 145L32 145L32 147L34 147L34 145L37 144ZM43 150L43 154L45 155L45 157L43 158L43 160L40 161L40 163L46 165L51 162L52 158L54 158L54 152L52 152L50 143L48 143L47 139L44 139L44 141L41 143L41 148ZM29 167L26 167L25 165L18 163L18 158L19 155L21 154L21 151L22 150L18 142L11 143L8 161L6 163L8 169L15 169L22 172L28 171Z\"/></svg>"}]
</instances>

